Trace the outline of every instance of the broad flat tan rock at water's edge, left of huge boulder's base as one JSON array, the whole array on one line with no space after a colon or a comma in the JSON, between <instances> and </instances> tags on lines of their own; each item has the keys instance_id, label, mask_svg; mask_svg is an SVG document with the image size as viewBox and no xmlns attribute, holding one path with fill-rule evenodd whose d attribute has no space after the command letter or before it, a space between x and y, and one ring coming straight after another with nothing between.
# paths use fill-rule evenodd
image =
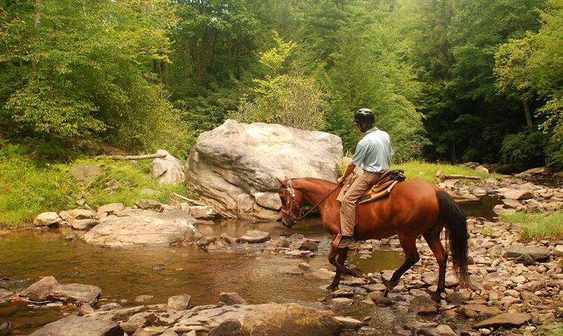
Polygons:
<instances>
[{"instance_id":1,"label":"broad flat tan rock at water's edge, left of huge boulder's base","mask_svg":"<svg viewBox=\"0 0 563 336\"><path fill-rule=\"evenodd\" d=\"M107 247L169 246L192 240L196 233L195 219L166 218L154 216L126 216L109 218L92 230L83 239L93 245Z\"/></svg>"}]
</instances>

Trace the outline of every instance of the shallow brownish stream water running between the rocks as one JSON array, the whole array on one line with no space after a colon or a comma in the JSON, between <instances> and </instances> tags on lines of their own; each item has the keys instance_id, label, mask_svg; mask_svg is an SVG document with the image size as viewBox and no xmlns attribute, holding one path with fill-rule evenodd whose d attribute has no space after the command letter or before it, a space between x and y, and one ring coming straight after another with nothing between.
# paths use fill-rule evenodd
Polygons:
<instances>
[{"instance_id":1,"label":"shallow brownish stream water running between the rocks","mask_svg":"<svg viewBox=\"0 0 563 336\"><path fill-rule=\"evenodd\" d=\"M462 205L468 216L491 217L495 200L487 198ZM0 277L16 282L11 289L24 288L41 276L52 275L60 283L84 283L99 286L104 300L127 300L124 306L134 305L138 295L152 295L145 303L163 303L172 295L188 293L192 303L218 302L221 292L238 292L250 303L296 302L318 305L318 298L327 295L323 289L328 280L313 279L297 267L306 261L314 268L333 269L327 262L329 237L318 218L311 218L288 230L280 223L252 223L223 221L213 226L200 225L204 235L231 237L247 230L270 232L273 238L280 234L300 233L320 239L320 255L314 258L286 258L249 248L246 251L199 251L192 247L152 247L110 249L90 246L84 241L65 241L67 231L15 231L0 240ZM395 269L403 262L397 251L376 251L369 259L351 255L350 262L364 271L377 272ZM152 265L166 267L155 271ZM64 309L29 307L24 302L0 305L0 323L11 321L16 328L13 335L27 334L55 321ZM350 311L350 315L354 315Z\"/></svg>"}]
</instances>

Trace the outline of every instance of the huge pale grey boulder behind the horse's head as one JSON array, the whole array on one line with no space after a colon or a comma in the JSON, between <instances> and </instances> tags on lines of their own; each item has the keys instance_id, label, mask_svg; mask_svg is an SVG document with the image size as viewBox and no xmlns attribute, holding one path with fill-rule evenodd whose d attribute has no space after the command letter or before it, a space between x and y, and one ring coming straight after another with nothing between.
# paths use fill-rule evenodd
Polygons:
<instances>
[{"instance_id":1,"label":"huge pale grey boulder behind the horse's head","mask_svg":"<svg viewBox=\"0 0 563 336\"><path fill-rule=\"evenodd\" d=\"M276 124L237 123L201 133L187 162L187 182L201 200L239 218L275 219L276 178L336 181L342 141L325 132Z\"/></svg>"}]
</instances>

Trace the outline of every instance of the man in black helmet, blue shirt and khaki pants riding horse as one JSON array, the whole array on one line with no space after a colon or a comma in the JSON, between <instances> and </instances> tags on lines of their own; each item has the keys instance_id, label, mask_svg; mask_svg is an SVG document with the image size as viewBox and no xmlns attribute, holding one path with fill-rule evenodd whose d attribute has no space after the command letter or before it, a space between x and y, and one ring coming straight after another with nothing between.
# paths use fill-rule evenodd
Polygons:
<instances>
[{"instance_id":1,"label":"man in black helmet, blue shirt and khaki pants riding horse","mask_svg":"<svg viewBox=\"0 0 563 336\"><path fill-rule=\"evenodd\" d=\"M345 193L340 208L340 232L342 238L338 248L350 247L354 244L354 225L356 221L356 202L373 184L377 183L383 171L389 169L394 154L391 139L387 132L373 126L375 118L370 109L359 109L352 120L364 138L356 146L354 158L346 167L344 174L338 179L343 185L355 167L362 165L362 175L352 183Z\"/></svg>"}]
</instances>

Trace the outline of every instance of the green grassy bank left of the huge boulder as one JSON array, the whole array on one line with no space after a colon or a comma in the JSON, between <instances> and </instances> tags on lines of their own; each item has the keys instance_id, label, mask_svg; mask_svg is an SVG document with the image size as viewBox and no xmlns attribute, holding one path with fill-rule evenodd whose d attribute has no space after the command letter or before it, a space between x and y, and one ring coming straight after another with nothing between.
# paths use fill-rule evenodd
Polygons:
<instances>
[{"instance_id":1,"label":"green grassy bank left of the huge boulder","mask_svg":"<svg viewBox=\"0 0 563 336\"><path fill-rule=\"evenodd\" d=\"M42 151L51 153L51 156L43 155ZM85 190L81 190L69 173L73 165L83 162L95 163L104 171ZM125 162L79 158L57 146L50 148L44 144L40 148L10 144L0 139L0 228L28 226L44 211L76 208L80 193L84 193L86 202L94 208L113 202L131 205L143 198L166 202L172 192L185 193L184 186L164 186L152 179L150 165L150 160ZM148 196L143 189L157 193Z\"/></svg>"}]
</instances>

